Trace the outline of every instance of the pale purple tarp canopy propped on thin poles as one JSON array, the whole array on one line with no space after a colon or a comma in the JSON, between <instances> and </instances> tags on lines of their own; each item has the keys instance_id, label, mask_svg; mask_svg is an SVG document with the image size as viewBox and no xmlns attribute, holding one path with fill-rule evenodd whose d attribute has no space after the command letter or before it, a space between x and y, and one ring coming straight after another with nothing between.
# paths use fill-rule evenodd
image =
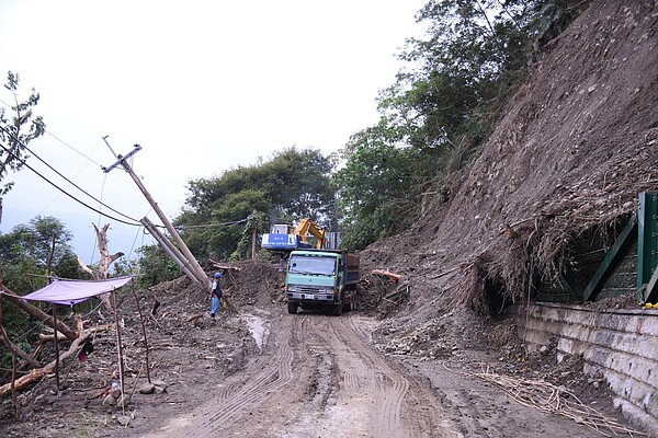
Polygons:
<instances>
[{"instance_id":1,"label":"pale purple tarp canopy propped on thin poles","mask_svg":"<svg viewBox=\"0 0 658 438\"><path fill-rule=\"evenodd\" d=\"M110 278L106 280L54 280L45 288L21 298L34 301L47 301L54 304L73 306L97 295L110 292L131 281L133 276Z\"/></svg>"}]
</instances>

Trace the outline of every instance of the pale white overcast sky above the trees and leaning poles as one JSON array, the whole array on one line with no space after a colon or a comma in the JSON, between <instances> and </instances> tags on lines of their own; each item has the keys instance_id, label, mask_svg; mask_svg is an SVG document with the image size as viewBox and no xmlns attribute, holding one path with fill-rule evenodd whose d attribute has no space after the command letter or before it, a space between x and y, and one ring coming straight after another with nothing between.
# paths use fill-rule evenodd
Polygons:
<instances>
[{"instance_id":1,"label":"pale white overcast sky above the trees and leaning poles","mask_svg":"<svg viewBox=\"0 0 658 438\"><path fill-rule=\"evenodd\" d=\"M133 145L133 168L167 216L181 212L190 180L268 160L286 147L340 149L378 119L375 97L404 67L406 38L422 36L426 0L167 1L2 0L0 82L48 134L29 145L110 207L159 223L131 177L105 174ZM0 106L13 102L0 89ZM112 216L32 158L39 173ZM41 216L61 219L76 252L98 262L92 222L111 223L111 253L152 243L137 227L101 217L29 169L11 180L1 232Z\"/></svg>"}]
</instances>

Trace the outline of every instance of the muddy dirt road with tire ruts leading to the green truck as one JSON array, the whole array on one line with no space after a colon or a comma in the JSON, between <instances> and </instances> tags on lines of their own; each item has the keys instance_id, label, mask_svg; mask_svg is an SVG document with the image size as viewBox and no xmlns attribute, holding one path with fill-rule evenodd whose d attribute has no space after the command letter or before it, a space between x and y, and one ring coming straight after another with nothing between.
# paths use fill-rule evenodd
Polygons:
<instances>
[{"instance_id":1,"label":"muddy dirt road with tire ruts leading to the green truck","mask_svg":"<svg viewBox=\"0 0 658 438\"><path fill-rule=\"evenodd\" d=\"M150 437L456 437L426 380L387 361L366 320L272 321L262 354Z\"/></svg>"}]
</instances>

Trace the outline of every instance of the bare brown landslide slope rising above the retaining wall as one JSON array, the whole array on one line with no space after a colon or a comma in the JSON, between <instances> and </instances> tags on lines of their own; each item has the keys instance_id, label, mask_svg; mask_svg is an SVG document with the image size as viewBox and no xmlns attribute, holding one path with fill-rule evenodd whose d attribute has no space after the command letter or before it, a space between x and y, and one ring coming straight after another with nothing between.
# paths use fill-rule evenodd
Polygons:
<instances>
[{"instance_id":1,"label":"bare brown landslide slope rising above the retaining wall","mask_svg":"<svg viewBox=\"0 0 658 438\"><path fill-rule=\"evenodd\" d=\"M532 66L451 198L366 249L364 267L404 274L416 303L450 289L479 310L486 289L519 298L532 275L555 281L575 240L619 230L639 193L658 191L657 31L654 1L592 1Z\"/></svg>"}]
</instances>

